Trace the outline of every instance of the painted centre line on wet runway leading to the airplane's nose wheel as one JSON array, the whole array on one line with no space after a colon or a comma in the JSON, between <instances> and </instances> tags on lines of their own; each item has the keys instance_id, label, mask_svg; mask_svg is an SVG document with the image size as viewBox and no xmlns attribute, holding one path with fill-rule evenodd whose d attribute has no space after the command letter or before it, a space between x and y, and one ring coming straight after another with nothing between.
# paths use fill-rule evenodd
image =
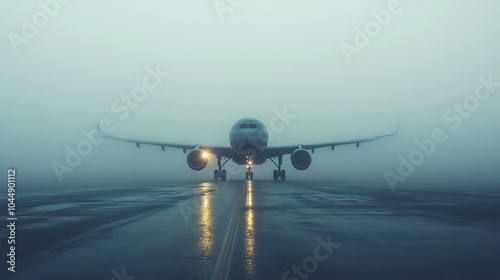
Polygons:
<instances>
[{"instance_id":1,"label":"painted centre line on wet runway leading to the airplane's nose wheel","mask_svg":"<svg viewBox=\"0 0 500 280\"><path fill-rule=\"evenodd\" d=\"M229 264L231 262L231 255L233 252L234 240L236 239L236 231L238 229L238 223L240 221L240 212L243 207L244 194L246 190L247 181L241 185L240 193L238 194L238 199L236 207L231 215L231 221L229 222L229 228L226 233L226 238L224 239L224 247L222 247L222 253L217 264L217 269L215 270L214 280L226 280L227 274L229 272Z\"/></svg>"}]
</instances>

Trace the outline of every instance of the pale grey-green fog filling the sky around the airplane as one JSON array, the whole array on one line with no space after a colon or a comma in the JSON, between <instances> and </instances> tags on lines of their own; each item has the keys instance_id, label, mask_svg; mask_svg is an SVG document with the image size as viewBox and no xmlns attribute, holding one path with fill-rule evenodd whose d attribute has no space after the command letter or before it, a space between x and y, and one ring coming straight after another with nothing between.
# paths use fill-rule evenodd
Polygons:
<instances>
[{"instance_id":1,"label":"pale grey-green fog filling the sky around the airplane","mask_svg":"<svg viewBox=\"0 0 500 280\"><path fill-rule=\"evenodd\" d=\"M400 124L397 135L358 149L317 149L305 171L286 156L290 180L388 186L389 172L403 179L396 188L500 185L498 1L40 3L48 4L0 4L3 182L9 167L26 189L209 180L213 157L196 172L182 150L111 139L62 180L54 162L65 165L67 147L104 118L116 135L229 146L238 119L270 129L285 110L293 118L272 131L270 146L370 137ZM160 72L149 79L156 87L117 112L151 71ZM401 157L435 129L446 140L402 176ZM255 179L272 179L274 168L256 166Z\"/></svg>"}]
</instances>

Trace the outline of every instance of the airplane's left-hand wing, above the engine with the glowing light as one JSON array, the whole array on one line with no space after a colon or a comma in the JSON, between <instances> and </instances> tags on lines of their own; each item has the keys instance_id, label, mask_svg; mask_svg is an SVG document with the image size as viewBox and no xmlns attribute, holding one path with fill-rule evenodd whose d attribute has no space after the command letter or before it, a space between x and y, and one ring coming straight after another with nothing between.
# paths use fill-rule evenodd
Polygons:
<instances>
[{"instance_id":1,"label":"airplane's left-hand wing, above the engine with the glowing light","mask_svg":"<svg viewBox=\"0 0 500 280\"><path fill-rule=\"evenodd\" d=\"M99 124L97 125L97 130L99 131L99 134L101 137L104 138L110 138L114 140L119 140L119 141L124 141L124 142L129 142L129 143L135 143L137 148L139 148L141 145L152 145L152 146L159 146L161 149L164 151L165 148L177 148L177 149L182 149L184 153L186 153L187 150L194 150L194 149L201 149L209 154L213 155L219 155L219 156L224 156L230 158L232 156L231 153L231 148L230 147L215 147L215 146L205 146L205 145L194 145L194 144L180 144L180 143L172 143L172 142L164 142L164 141L154 141L154 140L143 140L143 139L134 139L134 138L127 138L127 137L120 137L120 136L114 136L114 135L107 135L104 134L99 127Z\"/></svg>"}]
</instances>

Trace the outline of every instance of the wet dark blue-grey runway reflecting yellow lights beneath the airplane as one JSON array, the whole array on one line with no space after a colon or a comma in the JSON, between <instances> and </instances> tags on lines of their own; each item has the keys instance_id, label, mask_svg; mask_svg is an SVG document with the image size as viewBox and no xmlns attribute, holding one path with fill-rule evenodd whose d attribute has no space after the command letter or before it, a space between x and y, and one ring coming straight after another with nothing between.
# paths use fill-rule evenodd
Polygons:
<instances>
[{"instance_id":1,"label":"wet dark blue-grey runway reflecting yellow lights beneath the airplane","mask_svg":"<svg viewBox=\"0 0 500 280\"><path fill-rule=\"evenodd\" d=\"M17 199L1 279L500 279L498 192L231 181Z\"/></svg>"}]
</instances>

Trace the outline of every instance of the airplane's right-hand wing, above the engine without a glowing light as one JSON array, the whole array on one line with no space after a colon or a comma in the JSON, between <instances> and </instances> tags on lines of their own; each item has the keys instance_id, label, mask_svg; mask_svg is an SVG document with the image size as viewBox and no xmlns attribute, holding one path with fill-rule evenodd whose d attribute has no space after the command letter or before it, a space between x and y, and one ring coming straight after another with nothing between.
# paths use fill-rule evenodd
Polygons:
<instances>
[{"instance_id":1,"label":"airplane's right-hand wing, above the engine without a glowing light","mask_svg":"<svg viewBox=\"0 0 500 280\"><path fill-rule=\"evenodd\" d=\"M399 124L396 127L396 131L391 133L391 134L385 134L385 135L378 135L378 136L373 136L373 137L368 137L368 138L360 138L360 139L352 139L352 140L345 140L345 141L332 141L332 142L326 142L326 143L320 143L320 144L309 144L309 145L291 145L291 146L282 146L282 147L269 147L267 148L267 158L272 158L272 157L277 157L277 156L282 156L286 154L291 154L297 149L305 149L305 150L312 150L314 152L314 149L318 148L324 148L324 147L330 147L333 151L335 146L342 146L342 145L349 145L349 144L356 144L356 147L359 147L360 143L364 142L371 142L378 140L383 137L388 137L388 136L393 136L398 132Z\"/></svg>"}]
</instances>

